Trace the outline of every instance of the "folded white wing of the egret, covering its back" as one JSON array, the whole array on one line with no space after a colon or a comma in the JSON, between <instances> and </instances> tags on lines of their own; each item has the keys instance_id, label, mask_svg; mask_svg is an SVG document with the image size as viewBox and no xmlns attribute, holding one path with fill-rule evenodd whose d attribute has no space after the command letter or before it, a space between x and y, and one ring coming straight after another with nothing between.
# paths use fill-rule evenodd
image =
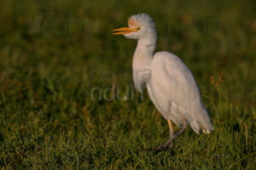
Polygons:
<instances>
[{"instance_id":1,"label":"folded white wing of the egret, covering its back","mask_svg":"<svg viewBox=\"0 0 256 170\"><path fill-rule=\"evenodd\" d=\"M195 125L195 130L201 128L211 131L212 124L207 111L202 103L201 95L195 78L188 67L176 55L168 52L158 52L154 54L151 64L152 91L157 96L163 107L169 107L170 103L176 105L177 111L183 114L189 124ZM158 89L156 89L158 88ZM168 105L163 105L169 102ZM168 111L170 108L163 108L162 111ZM166 114L168 114L166 112ZM207 125L205 125L207 124Z\"/></svg>"}]
</instances>

